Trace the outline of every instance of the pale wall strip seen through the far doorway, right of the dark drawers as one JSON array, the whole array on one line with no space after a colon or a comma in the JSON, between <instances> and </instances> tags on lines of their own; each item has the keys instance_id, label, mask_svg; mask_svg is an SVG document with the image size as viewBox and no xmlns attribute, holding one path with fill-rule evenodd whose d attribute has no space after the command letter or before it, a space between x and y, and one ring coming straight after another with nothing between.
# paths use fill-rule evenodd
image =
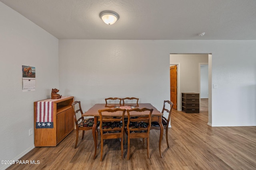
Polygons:
<instances>
[{"instance_id":1,"label":"pale wall strip seen through the far doorway, right of the dark drawers","mask_svg":"<svg viewBox=\"0 0 256 170\"><path fill-rule=\"evenodd\" d=\"M200 98L208 98L208 84L208 65L200 66Z\"/></svg>"}]
</instances>

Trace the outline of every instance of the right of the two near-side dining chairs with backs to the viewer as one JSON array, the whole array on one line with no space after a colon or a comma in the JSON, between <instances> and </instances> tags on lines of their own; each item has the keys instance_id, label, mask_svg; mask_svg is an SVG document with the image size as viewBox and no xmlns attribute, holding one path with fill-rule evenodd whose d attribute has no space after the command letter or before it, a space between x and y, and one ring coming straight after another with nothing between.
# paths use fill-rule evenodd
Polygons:
<instances>
[{"instance_id":1,"label":"right of the two near-side dining chairs with backs to the viewer","mask_svg":"<svg viewBox=\"0 0 256 170\"><path fill-rule=\"evenodd\" d=\"M127 109L126 112L128 115L128 122L125 128L126 134L128 136L127 160L129 160L130 158L130 139L134 139L134 138L147 138L147 152L148 152L148 158L150 158L149 137L150 137L150 127L151 127L151 115L152 115L153 109L135 108L135 109Z\"/></svg>"}]
</instances>

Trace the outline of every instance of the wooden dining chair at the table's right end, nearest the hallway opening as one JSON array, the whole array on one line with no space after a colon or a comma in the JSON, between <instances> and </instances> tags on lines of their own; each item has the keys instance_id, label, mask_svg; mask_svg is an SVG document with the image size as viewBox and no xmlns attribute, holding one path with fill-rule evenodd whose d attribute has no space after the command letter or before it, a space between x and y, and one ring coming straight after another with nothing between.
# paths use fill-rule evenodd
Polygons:
<instances>
[{"instance_id":1,"label":"wooden dining chair at the table's right end, nearest the hallway opening","mask_svg":"<svg viewBox=\"0 0 256 170\"><path fill-rule=\"evenodd\" d=\"M170 105L170 109L166 108L166 104ZM169 125L170 117L171 117L171 113L172 113L172 106L173 106L172 102L170 102L169 100L164 100L164 106L163 106L163 109L162 109L162 113L164 113L164 111L166 111L168 113L168 118L166 119L166 117L164 117L164 115L162 115L162 124L165 128L167 147L169 147L169 143L168 143L168 125ZM152 122L151 123L151 130L152 129L160 130L159 123L158 122Z\"/></svg>"}]
</instances>

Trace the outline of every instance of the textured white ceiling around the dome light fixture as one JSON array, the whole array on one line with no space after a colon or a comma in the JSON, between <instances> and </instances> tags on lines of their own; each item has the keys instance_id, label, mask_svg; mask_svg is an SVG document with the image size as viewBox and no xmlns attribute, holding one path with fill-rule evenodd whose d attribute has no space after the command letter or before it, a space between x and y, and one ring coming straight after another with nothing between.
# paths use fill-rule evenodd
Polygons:
<instances>
[{"instance_id":1,"label":"textured white ceiling around the dome light fixture","mask_svg":"<svg viewBox=\"0 0 256 170\"><path fill-rule=\"evenodd\" d=\"M256 40L256 0L0 1L58 39ZM105 24L104 10L120 19Z\"/></svg>"}]
</instances>

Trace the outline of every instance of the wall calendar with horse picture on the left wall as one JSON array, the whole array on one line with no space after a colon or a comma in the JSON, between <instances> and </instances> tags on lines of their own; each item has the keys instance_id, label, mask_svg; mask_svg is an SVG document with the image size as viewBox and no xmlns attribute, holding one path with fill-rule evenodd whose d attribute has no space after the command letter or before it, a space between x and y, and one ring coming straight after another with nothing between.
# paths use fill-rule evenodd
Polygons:
<instances>
[{"instance_id":1,"label":"wall calendar with horse picture on the left wall","mask_svg":"<svg viewBox=\"0 0 256 170\"><path fill-rule=\"evenodd\" d=\"M22 66L22 92L36 90L36 68L32 66Z\"/></svg>"}]
</instances>

